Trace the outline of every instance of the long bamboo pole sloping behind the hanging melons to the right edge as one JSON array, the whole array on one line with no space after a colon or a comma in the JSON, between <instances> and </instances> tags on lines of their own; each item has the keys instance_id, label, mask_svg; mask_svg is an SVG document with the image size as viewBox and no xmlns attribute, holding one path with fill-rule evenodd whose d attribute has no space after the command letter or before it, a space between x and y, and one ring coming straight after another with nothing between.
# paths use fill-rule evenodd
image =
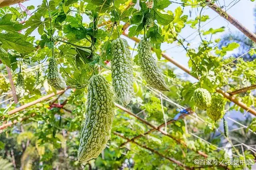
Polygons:
<instances>
[{"instance_id":1,"label":"long bamboo pole sloping behind the hanging melons to the right edge","mask_svg":"<svg viewBox=\"0 0 256 170\"><path fill-rule=\"evenodd\" d=\"M123 32L123 35L130 38L128 36L128 34L126 34L125 32ZM134 40L135 42L140 42L140 40L138 38L130 38L131 40ZM179 67L180 69L182 69L183 71L185 71L186 73L190 74L190 70L188 68L186 68L184 65L178 63L178 61L176 61L175 59L173 59L172 57L170 57L168 54L162 52L162 57L164 57L165 59L167 59L168 61L170 61L171 63L173 63L174 65L176 65L177 67ZM198 79L198 77L195 77L193 75L191 75L192 77ZM231 96L230 94L226 93L225 91L221 90L220 88L216 89L216 92L221 93L226 99L232 101L233 103L235 103L236 105L240 106L241 108L243 108L245 111L248 111L249 113L252 113L252 115L256 116L256 111L254 109L252 109L251 107L248 107L246 104L244 104L241 101L238 101L235 97Z\"/></svg>"}]
</instances>

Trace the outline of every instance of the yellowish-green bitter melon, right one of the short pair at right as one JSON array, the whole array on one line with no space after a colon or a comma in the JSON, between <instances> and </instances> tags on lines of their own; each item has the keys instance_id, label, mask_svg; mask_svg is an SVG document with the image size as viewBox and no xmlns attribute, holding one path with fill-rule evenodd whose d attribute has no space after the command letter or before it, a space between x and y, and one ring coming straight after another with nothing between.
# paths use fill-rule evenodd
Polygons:
<instances>
[{"instance_id":1,"label":"yellowish-green bitter melon, right one of the short pair at right","mask_svg":"<svg viewBox=\"0 0 256 170\"><path fill-rule=\"evenodd\" d=\"M213 120L218 121L224 115L226 102L220 93L212 94L212 104L206 109L207 115Z\"/></svg>"}]
</instances>

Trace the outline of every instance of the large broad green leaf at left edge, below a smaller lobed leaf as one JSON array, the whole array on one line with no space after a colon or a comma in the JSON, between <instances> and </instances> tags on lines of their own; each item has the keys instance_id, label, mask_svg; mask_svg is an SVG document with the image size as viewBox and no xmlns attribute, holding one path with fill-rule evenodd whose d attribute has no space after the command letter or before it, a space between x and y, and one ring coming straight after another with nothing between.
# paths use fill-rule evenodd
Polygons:
<instances>
[{"instance_id":1,"label":"large broad green leaf at left edge, below a smaller lobed leaf","mask_svg":"<svg viewBox=\"0 0 256 170\"><path fill-rule=\"evenodd\" d=\"M32 43L26 42L26 36L19 33L0 34L0 41L4 49L14 49L19 53L30 53L36 49Z\"/></svg>"}]
</instances>

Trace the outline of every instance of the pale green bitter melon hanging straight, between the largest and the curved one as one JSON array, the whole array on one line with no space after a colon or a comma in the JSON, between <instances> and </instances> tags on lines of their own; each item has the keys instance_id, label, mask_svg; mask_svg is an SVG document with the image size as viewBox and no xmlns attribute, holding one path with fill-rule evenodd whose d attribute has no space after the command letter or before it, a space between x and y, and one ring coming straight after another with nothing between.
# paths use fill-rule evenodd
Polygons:
<instances>
[{"instance_id":1,"label":"pale green bitter melon hanging straight, between the largest and the curved one","mask_svg":"<svg viewBox=\"0 0 256 170\"><path fill-rule=\"evenodd\" d=\"M129 45L123 38L117 38L112 42L112 85L119 101L128 105L134 94L132 61Z\"/></svg>"}]
</instances>

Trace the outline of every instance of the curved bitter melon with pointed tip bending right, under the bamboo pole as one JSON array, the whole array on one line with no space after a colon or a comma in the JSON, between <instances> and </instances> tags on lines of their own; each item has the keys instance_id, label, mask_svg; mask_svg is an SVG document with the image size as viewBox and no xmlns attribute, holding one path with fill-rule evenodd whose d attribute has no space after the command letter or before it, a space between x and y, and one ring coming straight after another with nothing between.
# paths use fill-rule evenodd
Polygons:
<instances>
[{"instance_id":1,"label":"curved bitter melon with pointed tip bending right, under the bamboo pole","mask_svg":"<svg viewBox=\"0 0 256 170\"><path fill-rule=\"evenodd\" d=\"M160 91L168 91L162 73L156 66L156 61L151 53L151 44L141 40L138 45L139 65L142 75L150 87Z\"/></svg>"}]
</instances>

